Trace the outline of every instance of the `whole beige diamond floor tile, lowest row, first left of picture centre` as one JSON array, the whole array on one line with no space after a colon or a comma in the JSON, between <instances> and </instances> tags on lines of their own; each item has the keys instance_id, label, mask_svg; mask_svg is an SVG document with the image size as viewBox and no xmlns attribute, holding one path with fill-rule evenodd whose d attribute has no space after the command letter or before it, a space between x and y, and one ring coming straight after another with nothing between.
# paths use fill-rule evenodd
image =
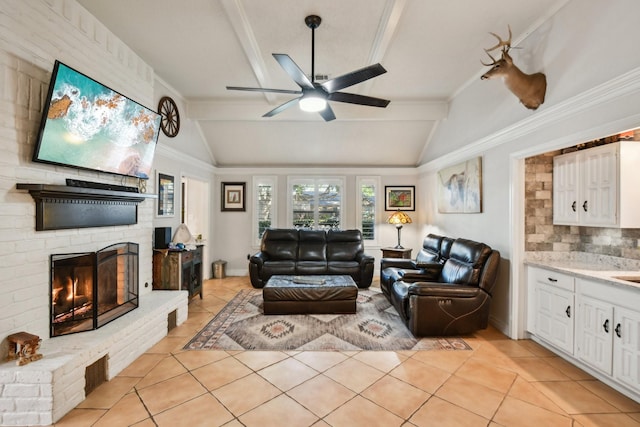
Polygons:
<instances>
[{"instance_id":1,"label":"whole beige diamond floor tile, lowest row, first left of picture centre","mask_svg":"<svg viewBox=\"0 0 640 427\"><path fill-rule=\"evenodd\" d=\"M258 374L251 374L211 392L235 416L282 394Z\"/></svg>"}]
</instances>

